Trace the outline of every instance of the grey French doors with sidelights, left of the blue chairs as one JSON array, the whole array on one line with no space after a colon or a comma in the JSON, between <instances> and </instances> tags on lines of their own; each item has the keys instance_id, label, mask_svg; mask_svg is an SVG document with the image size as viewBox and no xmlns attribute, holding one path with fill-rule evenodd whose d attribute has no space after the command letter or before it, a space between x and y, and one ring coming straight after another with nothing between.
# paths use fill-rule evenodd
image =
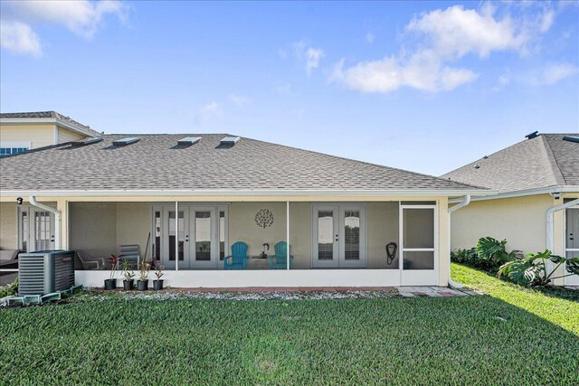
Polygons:
<instances>
[{"instance_id":1,"label":"grey French doors with sidelights, left of the blue chairs","mask_svg":"<svg viewBox=\"0 0 579 386\"><path fill-rule=\"evenodd\" d=\"M227 248L226 208L174 205L153 207L153 256L166 268L218 268Z\"/></svg>"}]
</instances>

